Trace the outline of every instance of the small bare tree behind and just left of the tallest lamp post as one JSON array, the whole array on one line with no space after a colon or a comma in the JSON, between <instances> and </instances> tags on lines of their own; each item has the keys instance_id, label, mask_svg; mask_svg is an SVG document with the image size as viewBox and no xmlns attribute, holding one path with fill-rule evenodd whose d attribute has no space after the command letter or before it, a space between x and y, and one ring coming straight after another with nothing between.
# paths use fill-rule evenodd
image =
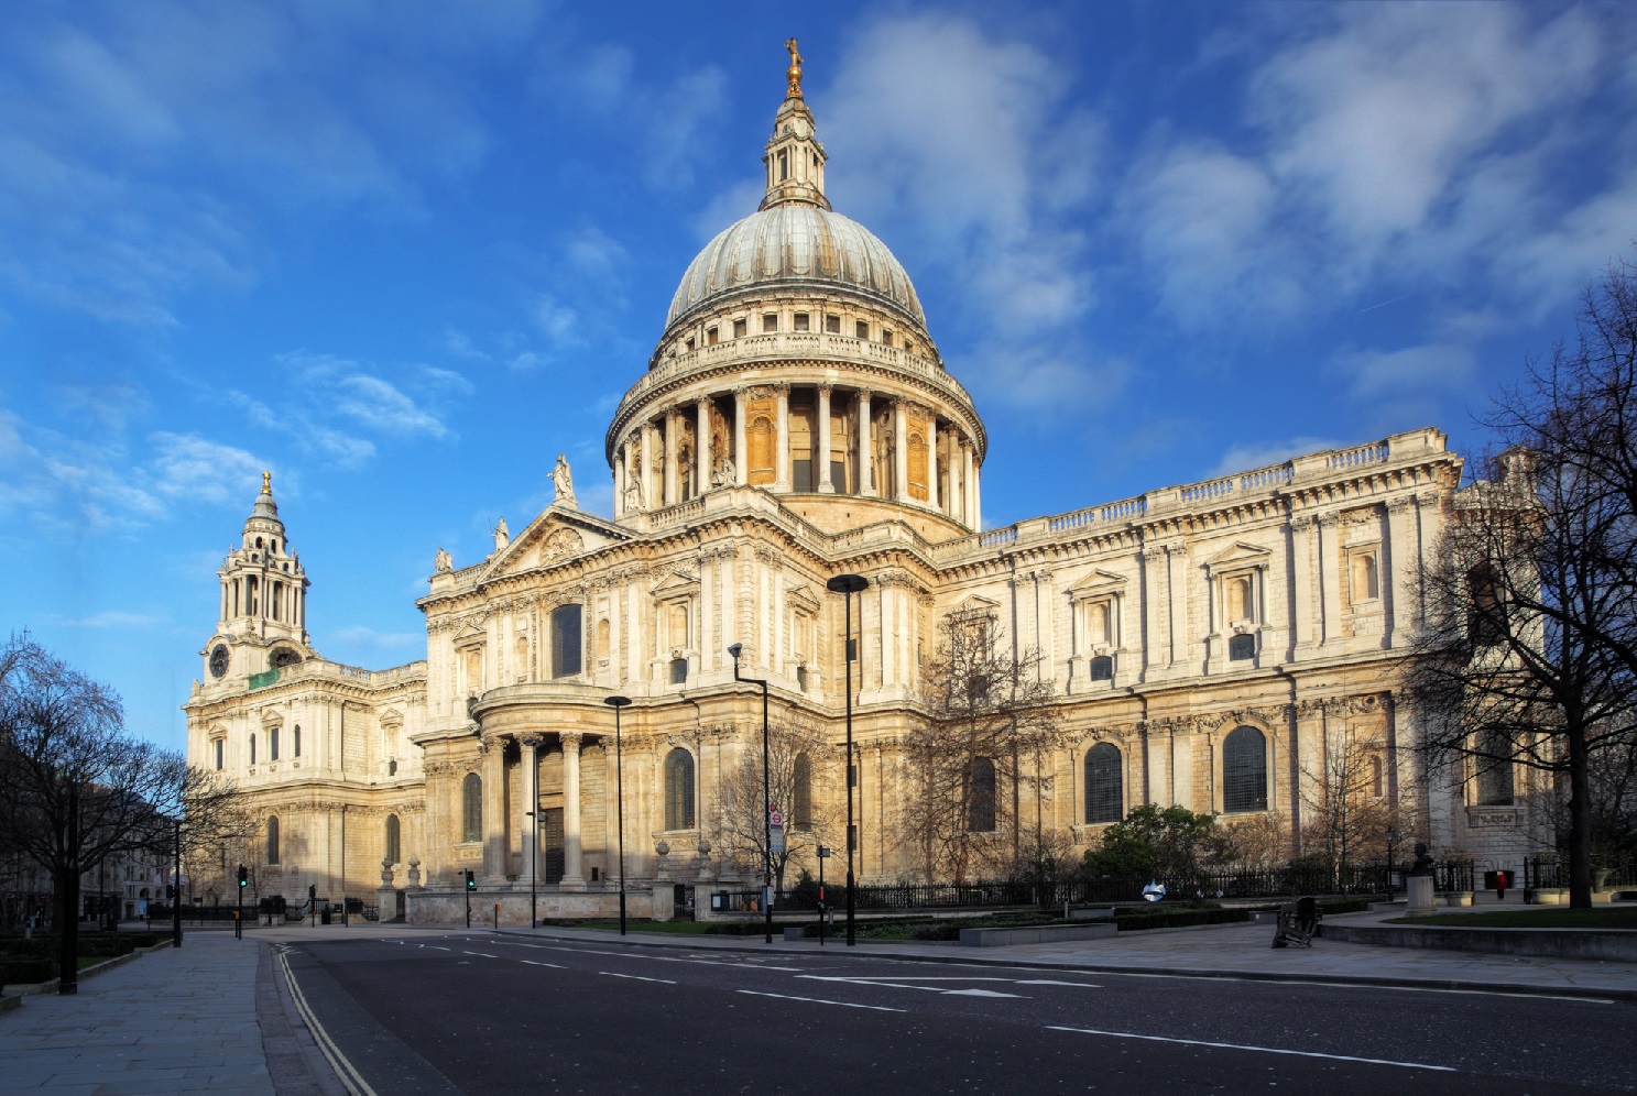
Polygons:
<instances>
[{"instance_id":1,"label":"small bare tree behind and just left of the tallest lamp post","mask_svg":"<svg viewBox=\"0 0 1637 1096\"><path fill-rule=\"evenodd\" d=\"M784 815L784 852L773 856L776 893L784 890L784 870L792 859L835 841L841 821L835 795L820 792L840 782L841 748L805 723L768 726L768 792ZM740 867L760 872L766 846L768 802L763 795L760 734L745 743L735 764L722 777L717 798L715 839L719 854Z\"/></svg>"}]
</instances>

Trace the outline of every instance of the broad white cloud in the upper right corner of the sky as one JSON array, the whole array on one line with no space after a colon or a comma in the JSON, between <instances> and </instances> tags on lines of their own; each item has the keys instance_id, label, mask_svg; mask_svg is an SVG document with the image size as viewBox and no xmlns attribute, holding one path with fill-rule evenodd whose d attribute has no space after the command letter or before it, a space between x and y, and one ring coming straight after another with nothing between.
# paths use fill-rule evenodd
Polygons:
<instances>
[{"instance_id":1,"label":"broad white cloud in the upper right corner of the sky","mask_svg":"<svg viewBox=\"0 0 1637 1096\"><path fill-rule=\"evenodd\" d=\"M1265 56L1238 47L1247 131L1208 144L1157 126L1125 182L1120 222L1166 312L1226 329L1247 309L1283 321L1426 288L1441 311L1572 298L1637 214L1637 129L1609 111L1637 25L1614 11L1270 18Z\"/></svg>"}]
</instances>

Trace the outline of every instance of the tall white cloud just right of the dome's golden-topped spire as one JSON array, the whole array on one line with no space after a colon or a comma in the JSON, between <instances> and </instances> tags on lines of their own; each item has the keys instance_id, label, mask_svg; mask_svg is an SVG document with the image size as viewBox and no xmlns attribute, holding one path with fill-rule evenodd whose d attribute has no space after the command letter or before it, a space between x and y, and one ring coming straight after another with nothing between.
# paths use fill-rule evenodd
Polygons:
<instances>
[{"instance_id":1,"label":"tall white cloud just right of the dome's golden-topped spire","mask_svg":"<svg viewBox=\"0 0 1637 1096\"><path fill-rule=\"evenodd\" d=\"M1103 366L1058 352L1094 303L1079 218L1102 144L1067 90L1030 44L963 16L894 15L863 26L812 97L830 200L897 234L920 268L946 272L979 342L994 344L967 358L972 380L1017 402L1084 401L1107 381Z\"/></svg>"}]
</instances>

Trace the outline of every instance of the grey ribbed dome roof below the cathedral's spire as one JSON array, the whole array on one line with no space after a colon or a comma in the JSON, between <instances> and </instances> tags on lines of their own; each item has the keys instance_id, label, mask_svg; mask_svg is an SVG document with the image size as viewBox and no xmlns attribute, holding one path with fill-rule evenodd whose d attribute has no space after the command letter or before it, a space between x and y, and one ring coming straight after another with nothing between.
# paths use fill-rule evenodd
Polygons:
<instances>
[{"instance_id":1,"label":"grey ribbed dome roof below the cathedral's spire","mask_svg":"<svg viewBox=\"0 0 1637 1096\"><path fill-rule=\"evenodd\" d=\"M758 209L706 244L676 286L665 326L720 298L773 283L848 290L927 326L904 263L874 232L832 209L799 203Z\"/></svg>"}]
</instances>

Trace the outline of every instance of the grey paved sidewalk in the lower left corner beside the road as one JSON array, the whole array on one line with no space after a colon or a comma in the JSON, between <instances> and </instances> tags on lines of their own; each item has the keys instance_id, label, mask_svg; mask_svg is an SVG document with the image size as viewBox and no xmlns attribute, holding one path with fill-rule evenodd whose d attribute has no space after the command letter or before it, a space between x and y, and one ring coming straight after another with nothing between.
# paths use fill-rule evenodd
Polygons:
<instances>
[{"instance_id":1,"label":"grey paved sidewalk in the lower left corner beside the road","mask_svg":"<svg viewBox=\"0 0 1637 1096\"><path fill-rule=\"evenodd\" d=\"M0 1088L85 1093L273 1093L255 1014L264 947L190 934L0 1013Z\"/></svg>"}]
</instances>

